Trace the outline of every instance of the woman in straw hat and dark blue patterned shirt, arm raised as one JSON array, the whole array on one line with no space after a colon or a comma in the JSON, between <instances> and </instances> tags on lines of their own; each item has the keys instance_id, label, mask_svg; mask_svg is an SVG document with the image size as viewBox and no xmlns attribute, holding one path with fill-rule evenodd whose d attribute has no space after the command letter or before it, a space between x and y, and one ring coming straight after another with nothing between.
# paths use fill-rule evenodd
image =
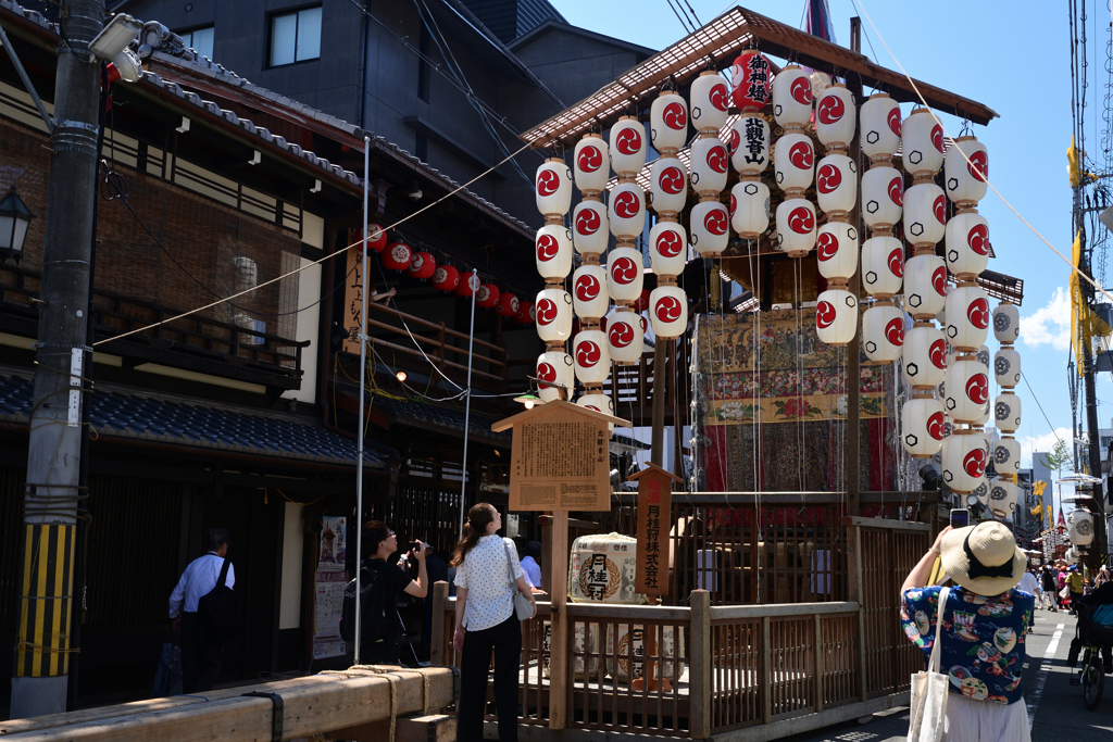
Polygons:
<instances>
[{"instance_id":1,"label":"woman in straw hat and dark blue patterned shirt, arm raised","mask_svg":"<svg viewBox=\"0 0 1113 742\"><path fill-rule=\"evenodd\" d=\"M957 586L939 610L939 586L926 586L938 557ZM1030 742L1021 687L1024 637L1035 597L1016 590L1027 558L1012 532L987 522L944 528L902 587L905 633L930 657L942 616L939 672L951 680L947 742Z\"/></svg>"}]
</instances>

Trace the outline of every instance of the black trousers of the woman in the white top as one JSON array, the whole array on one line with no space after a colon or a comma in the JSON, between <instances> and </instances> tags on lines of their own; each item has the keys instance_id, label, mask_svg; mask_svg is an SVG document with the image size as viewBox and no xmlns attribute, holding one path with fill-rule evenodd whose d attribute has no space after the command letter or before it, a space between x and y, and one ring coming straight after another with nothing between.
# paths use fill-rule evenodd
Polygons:
<instances>
[{"instance_id":1,"label":"black trousers of the woman in the white top","mask_svg":"<svg viewBox=\"0 0 1113 742\"><path fill-rule=\"evenodd\" d=\"M499 742L518 742L518 669L521 664L522 624L513 613L496 626L464 633L460 701L456 702L456 742L483 740L483 711L492 650Z\"/></svg>"}]
</instances>

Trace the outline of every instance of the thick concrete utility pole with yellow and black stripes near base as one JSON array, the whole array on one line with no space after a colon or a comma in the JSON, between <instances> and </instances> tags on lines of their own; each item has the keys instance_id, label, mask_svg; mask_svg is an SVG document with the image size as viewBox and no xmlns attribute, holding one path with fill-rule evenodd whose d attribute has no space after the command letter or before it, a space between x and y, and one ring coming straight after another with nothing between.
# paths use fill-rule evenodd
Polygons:
<instances>
[{"instance_id":1,"label":"thick concrete utility pole with yellow and black stripes near base","mask_svg":"<svg viewBox=\"0 0 1113 742\"><path fill-rule=\"evenodd\" d=\"M36 344L23 503L22 591L11 716L66 711L73 543L79 486L82 377L90 250L97 196L100 62L89 42L105 23L104 0L63 0L50 136L42 246L42 304Z\"/></svg>"}]
</instances>

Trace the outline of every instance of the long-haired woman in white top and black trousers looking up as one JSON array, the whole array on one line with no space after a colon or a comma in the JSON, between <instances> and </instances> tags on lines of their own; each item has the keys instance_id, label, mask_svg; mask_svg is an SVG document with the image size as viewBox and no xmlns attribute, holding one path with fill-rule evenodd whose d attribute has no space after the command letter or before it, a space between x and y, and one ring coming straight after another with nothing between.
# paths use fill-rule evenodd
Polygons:
<instances>
[{"instance_id":1,"label":"long-haired woman in white top and black trousers looking up","mask_svg":"<svg viewBox=\"0 0 1113 742\"><path fill-rule=\"evenodd\" d=\"M452 645L460 654L460 700L456 702L456 742L483 739L487 669L494 651L494 703L499 741L518 742L518 670L522 627L514 615L514 588L538 606L518 551L495 532L502 516L489 503L467 511L464 535L452 555L456 567L456 631ZM513 574L514 587L511 587Z\"/></svg>"}]
</instances>

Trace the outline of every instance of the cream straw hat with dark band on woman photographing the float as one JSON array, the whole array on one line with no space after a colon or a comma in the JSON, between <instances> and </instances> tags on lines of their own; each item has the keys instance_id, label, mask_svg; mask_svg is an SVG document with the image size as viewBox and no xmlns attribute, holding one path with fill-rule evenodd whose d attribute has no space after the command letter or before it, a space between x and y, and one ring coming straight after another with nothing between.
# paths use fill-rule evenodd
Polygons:
<instances>
[{"instance_id":1,"label":"cream straw hat with dark band on woman photographing the float","mask_svg":"<svg viewBox=\"0 0 1113 742\"><path fill-rule=\"evenodd\" d=\"M951 578L978 595L1012 590L1028 563L1012 532L993 521L948 532L939 552Z\"/></svg>"}]
</instances>

